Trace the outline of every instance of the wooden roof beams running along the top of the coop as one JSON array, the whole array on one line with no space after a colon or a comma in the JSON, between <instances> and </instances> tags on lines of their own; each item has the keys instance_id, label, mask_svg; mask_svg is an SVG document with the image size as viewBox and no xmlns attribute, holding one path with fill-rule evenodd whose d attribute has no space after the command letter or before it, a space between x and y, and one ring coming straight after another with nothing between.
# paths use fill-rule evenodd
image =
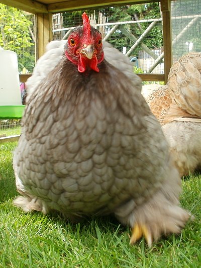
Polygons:
<instances>
[{"instance_id":1,"label":"wooden roof beams running along the top of the coop","mask_svg":"<svg viewBox=\"0 0 201 268\"><path fill-rule=\"evenodd\" d=\"M76 10L83 8L124 5L124 4L142 4L158 2L157 0L0 0L0 3L9 5L30 13L48 13L67 10Z\"/></svg>"}]
</instances>

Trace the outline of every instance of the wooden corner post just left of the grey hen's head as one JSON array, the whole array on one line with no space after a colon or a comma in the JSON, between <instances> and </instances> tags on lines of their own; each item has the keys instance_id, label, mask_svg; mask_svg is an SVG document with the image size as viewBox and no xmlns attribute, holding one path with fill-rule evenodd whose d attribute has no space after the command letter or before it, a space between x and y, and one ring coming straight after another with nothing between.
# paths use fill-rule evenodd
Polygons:
<instances>
[{"instance_id":1,"label":"wooden corner post just left of the grey hen's head","mask_svg":"<svg viewBox=\"0 0 201 268\"><path fill-rule=\"evenodd\" d=\"M46 45L52 41L52 13L37 14L37 58L45 53Z\"/></svg>"}]
</instances>

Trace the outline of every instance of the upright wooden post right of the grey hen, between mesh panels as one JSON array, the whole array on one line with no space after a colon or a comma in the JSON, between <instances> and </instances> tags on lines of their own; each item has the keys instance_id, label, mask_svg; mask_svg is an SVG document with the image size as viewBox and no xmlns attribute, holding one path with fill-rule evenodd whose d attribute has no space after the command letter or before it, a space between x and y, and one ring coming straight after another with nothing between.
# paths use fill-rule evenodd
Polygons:
<instances>
[{"instance_id":1,"label":"upright wooden post right of the grey hen, between mesh panels","mask_svg":"<svg viewBox=\"0 0 201 268\"><path fill-rule=\"evenodd\" d=\"M163 47L164 47L164 75L165 83L172 66L172 30L171 30L171 1L161 0L161 12L163 19Z\"/></svg>"}]
</instances>

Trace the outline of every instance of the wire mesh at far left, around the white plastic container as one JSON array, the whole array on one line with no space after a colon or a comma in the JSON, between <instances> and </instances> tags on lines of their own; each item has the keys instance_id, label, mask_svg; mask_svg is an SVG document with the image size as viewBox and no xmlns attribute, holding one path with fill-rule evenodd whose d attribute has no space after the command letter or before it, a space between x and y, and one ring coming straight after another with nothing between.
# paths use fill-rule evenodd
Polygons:
<instances>
[{"instance_id":1,"label":"wire mesh at far left, around the white plastic container","mask_svg":"<svg viewBox=\"0 0 201 268\"><path fill-rule=\"evenodd\" d=\"M35 28L35 15L0 4L0 48L17 53L19 73L32 73L35 66ZM20 88L23 98L24 83ZM21 120L0 120L0 138L20 134L20 125Z\"/></svg>"}]
</instances>

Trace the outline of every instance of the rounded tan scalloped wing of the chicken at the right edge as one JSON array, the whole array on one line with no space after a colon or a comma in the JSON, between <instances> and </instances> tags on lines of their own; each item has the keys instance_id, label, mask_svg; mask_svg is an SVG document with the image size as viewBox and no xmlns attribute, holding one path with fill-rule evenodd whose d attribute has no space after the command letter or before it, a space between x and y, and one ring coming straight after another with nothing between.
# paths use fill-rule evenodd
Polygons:
<instances>
[{"instance_id":1,"label":"rounded tan scalloped wing of the chicken at the right edge","mask_svg":"<svg viewBox=\"0 0 201 268\"><path fill-rule=\"evenodd\" d=\"M170 95L178 107L201 117L201 53L189 53L174 63L168 83Z\"/></svg>"}]
</instances>

